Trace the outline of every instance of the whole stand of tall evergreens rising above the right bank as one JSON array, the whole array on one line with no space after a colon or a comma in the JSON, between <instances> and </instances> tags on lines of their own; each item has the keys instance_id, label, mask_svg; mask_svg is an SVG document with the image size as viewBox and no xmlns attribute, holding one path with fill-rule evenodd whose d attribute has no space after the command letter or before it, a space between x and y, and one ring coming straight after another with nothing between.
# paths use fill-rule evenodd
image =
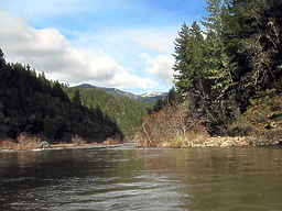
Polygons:
<instances>
[{"instance_id":1,"label":"whole stand of tall evergreens rising above the right bank","mask_svg":"<svg viewBox=\"0 0 282 211\"><path fill-rule=\"evenodd\" d=\"M217 133L257 91L281 90L282 2L207 0L207 16L175 38L175 86L196 118ZM205 36L204 36L205 35Z\"/></svg>"}]
</instances>

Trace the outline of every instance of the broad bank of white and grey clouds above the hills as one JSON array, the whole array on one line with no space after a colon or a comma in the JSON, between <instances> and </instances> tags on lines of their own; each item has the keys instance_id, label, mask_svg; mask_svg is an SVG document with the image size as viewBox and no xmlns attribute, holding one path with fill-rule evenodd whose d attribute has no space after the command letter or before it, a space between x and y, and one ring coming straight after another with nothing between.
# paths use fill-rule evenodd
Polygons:
<instances>
[{"instance_id":1,"label":"broad bank of white and grey clouds above the hills","mask_svg":"<svg viewBox=\"0 0 282 211\"><path fill-rule=\"evenodd\" d=\"M174 30L169 27L74 32L69 41L56 29L37 30L0 12L0 48L8 62L30 64L53 80L140 92L172 85Z\"/></svg>"}]
</instances>

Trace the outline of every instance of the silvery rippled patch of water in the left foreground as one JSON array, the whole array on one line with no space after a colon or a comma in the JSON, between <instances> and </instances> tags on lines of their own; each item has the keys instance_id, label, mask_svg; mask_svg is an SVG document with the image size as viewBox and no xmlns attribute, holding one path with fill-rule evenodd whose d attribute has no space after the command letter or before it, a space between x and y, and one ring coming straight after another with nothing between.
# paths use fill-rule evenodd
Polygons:
<instances>
[{"instance_id":1,"label":"silvery rippled patch of water in the left foreground","mask_svg":"<svg viewBox=\"0 0 282 211\"><path fill-rule=\"evenodd\" d=\"M169 178L170 175L156 177L155 174L148 174L137 177L134 181L119 177L59 180L53 186L22 191L19 195L21 202L12 203L12 207L59 211L176 209L180 204L175 201L177 193L174 191L177 184ZM31 200L32 203L26 202Z\"/></svg>"}]
</instances>

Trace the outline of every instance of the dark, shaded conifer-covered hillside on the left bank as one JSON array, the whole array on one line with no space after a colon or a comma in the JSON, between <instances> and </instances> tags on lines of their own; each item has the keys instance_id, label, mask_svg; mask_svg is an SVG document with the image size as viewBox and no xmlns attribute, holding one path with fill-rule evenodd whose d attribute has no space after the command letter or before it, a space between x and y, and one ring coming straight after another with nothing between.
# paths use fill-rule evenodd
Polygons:
<instances>
[{"instance_id":1,"label":"dark, shaded conifer-covered hillside on the left bank","mask_svg":"<svg viewBox=\"0 0 282 211\"><path fill-rule=\"evenodd\" d=\"M7 64L2 51L0 81L0 138L15 138L22 132L50 142L68 142L74 135L91 142L123 137L101 109L82 106L78 90L69 99L58 81L51 82L29 66Z\"/></svg>"}]
</instances>

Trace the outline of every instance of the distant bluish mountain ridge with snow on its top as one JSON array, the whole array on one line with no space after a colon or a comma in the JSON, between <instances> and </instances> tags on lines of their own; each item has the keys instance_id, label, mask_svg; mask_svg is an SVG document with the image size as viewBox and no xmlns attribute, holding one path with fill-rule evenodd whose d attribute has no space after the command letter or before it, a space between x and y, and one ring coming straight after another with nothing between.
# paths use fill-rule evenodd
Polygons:
<instances>
[{"instance_id":1,"label":"distant bluish mountain ridge with snow on its top","mask_svg":"<svg viewBox=\"0 0 282 211\"><path fill-rule=\"evenodd\" d=\"M107 93L110 93L119 98L129 98L129 99L142 101L142 102L155 102L158 99L160 98L163 99L169 95L167 92L158 92L158 91L149 91L148 93L134 95L128 91L122 91L117 88L96 87L89 84L82 84L82 85L75 86L74 88L101 89Z\"/></svg>"}]
</instances>

